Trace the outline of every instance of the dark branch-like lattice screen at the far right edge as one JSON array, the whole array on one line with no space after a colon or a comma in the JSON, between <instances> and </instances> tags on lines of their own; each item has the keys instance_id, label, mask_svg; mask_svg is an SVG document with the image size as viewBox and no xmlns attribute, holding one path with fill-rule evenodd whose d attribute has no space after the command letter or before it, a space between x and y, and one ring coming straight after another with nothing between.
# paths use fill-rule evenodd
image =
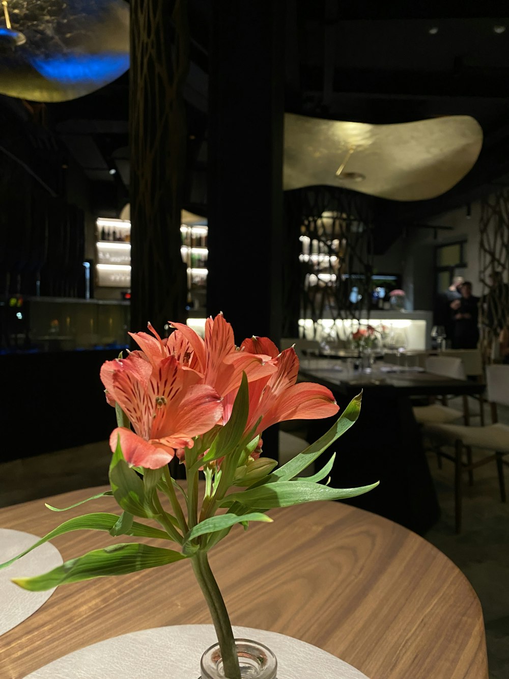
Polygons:
<instances>
[{"instance_id":1,"label":"dark branch-like lattice screen at the far right edge","mask_svg":"<svg viewBox=\"0 0 509 679\"><path fill-rule=\"evenodd\" d=\"M496 355L499 333L509 323L509 187L481 202L479 233L480 347L489 363Z\"/></svg>"}]
</instances>

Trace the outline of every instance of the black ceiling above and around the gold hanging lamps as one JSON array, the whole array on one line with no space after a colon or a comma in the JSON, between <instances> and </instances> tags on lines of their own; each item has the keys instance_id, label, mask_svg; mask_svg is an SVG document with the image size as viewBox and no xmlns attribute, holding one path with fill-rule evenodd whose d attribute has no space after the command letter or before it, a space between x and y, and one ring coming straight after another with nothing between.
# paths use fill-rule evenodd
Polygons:
<instances>
[{"instance_id":1,"label":"black ceiling above and around the gold hanging lamps","mask_svg":"<svg viewBox=\"0 0 509 679\"><path fill-rule=\"evenodd\" d=\"M185 206L202 213L212 1L189 2ZM379 221L422 223L509 175L509 17L491 12L489 2L286 0L282 39L286 111L375 124L467 114L482 126L483 150L467 177L432 200L377 200ZM128 200L128 84L126 74L94 94L47 107L50 130L111 214Z\"/></svg>"}]
</instances>

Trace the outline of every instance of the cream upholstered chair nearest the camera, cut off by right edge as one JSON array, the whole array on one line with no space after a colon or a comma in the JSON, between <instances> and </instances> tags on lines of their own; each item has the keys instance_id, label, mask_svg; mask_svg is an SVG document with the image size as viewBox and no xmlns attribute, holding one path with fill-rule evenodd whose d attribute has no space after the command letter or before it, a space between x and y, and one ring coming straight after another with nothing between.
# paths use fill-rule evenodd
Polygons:
<instances>
[{"instance_id":1,"label":"cream upholstered chair nearest the camera, cut off by right edge","mask_svg":"<svg viewBox=\"0 0 509 679\"><path fill-rule=\"evenodd\" d=\"M438 449L442 457L455 463L455 511L456 532L461 530L461 498L462 479L464 469L469 472L478 466L489 462L497 463L500 497L506 502L506 488L504 483L504 456L509 454L509 426L500 424L497 420L497 404L509 405L509 365L488 365L486 367L486 382L488 400L491 403L492 424L488 426L461 426L458 424L428 424L426 434L434 439L439 446L447 443L454 445L454 455L449 455ZM478 447L493 454L485 456L476 462L472 461L471 449ZM462 460L463 449L467 450L467 462ZM469 452L470 451L470 452Z\"/></svg>"}]
</instances>

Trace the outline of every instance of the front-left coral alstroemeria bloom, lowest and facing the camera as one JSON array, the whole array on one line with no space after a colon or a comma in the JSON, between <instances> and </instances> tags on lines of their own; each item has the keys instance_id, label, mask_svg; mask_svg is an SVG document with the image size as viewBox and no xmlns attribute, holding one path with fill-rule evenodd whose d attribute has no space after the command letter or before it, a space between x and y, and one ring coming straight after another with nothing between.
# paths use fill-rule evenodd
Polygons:
<instances>
[{"instance_id":1,"label":"front-left coral alstroemeria bloom, lowest and facing the camera","mask_svg":"<svg viewBox=\"0 0 509 679\"><path fill-rule=\"evenodd\" d=\"M210 430L222 417L223 405L214 388L201 384L200 373L181 365L175 356L164 355L168 342L162 340L156 348L150 335L140 344L144 340L147 352L106 361L100 378L109 403L118 403L134 428L134 432L126 427L113 430L112 451L120 437L129 464L159 469L172 460L176 449L192 447L193 437Z\"/></svg>"}]
</instances>

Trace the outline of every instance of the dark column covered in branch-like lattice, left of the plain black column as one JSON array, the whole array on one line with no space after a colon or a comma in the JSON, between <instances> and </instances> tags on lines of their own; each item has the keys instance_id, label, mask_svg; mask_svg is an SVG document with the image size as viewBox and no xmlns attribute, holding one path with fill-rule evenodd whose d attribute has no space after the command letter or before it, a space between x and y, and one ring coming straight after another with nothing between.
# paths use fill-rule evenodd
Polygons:
<instances>
[{"instance_id":1,"label":"dark column covered in branch-like lattice, left of the plain black column","mask_svg":"<svg viewBox=\"0 0 509 679\"><path fill-rule=\"evenodd\" d=\"M189 64L186 0L131 0L131 329L185 320L181 194Z\"/></svg>"}]
</instances>

